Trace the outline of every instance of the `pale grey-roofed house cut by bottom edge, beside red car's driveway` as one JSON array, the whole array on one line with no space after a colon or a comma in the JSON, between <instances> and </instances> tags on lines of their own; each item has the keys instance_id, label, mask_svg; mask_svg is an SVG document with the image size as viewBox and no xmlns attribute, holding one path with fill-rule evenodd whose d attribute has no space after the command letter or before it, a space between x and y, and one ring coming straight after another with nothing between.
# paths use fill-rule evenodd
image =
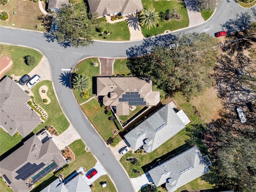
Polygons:
<instances>
[{"instance_id":1,"label":"pale grey-roofed house cut by bottom edge, beside red car's driveway","mask_svg":"<svg viewBox=\"0 0 256 192\"><path fill-rule=\"evenodd\" d=\"M54 180L50 185L40 192L91 192L90 186L85 182L80 174L68 182L62 182L60 178Z\"/></svg>"}]
</instances>

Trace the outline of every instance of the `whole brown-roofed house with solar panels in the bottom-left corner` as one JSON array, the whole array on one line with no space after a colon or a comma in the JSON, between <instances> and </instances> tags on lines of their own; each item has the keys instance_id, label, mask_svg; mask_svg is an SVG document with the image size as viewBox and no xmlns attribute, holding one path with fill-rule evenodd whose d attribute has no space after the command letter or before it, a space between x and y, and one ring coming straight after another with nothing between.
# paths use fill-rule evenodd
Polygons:
<instances>
[{"instance_id":1,"label":"whole brown-roofed house with solar panels in the bottom-left corner","mask_svg":"<svg viewBox=\"0 0 256 192\"><path fill-rule=\"evenodd\" d=\"M32 185L65 163L51 139L42 143L34 135L0 162L0 174L14 192L28 192Z\"/></svg>"}]
</instances>

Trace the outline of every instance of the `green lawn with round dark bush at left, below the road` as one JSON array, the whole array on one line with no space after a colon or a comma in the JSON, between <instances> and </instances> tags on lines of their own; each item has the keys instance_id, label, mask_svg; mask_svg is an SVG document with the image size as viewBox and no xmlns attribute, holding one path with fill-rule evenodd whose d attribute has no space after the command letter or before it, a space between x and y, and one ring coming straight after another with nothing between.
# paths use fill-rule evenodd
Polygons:
<instances>
[{"instance_id":1,"label":"green lawn with round dark bush at left, below the road","mask_svg":"<svg viewBox=\"0 0 256 192\"><path fill-rule=\"evenodd\" d=\"M0 58L4 55L10 56L13 62L12 69L6 72L6 76L10 76L12 74L15 76L28 74L28 72L30 72L42 59L42 54L34 49L0 44ZM34 66L28 66L25 63L24 57L27 55L36 57L36 64Z\"/></svg>"}]
</instances>

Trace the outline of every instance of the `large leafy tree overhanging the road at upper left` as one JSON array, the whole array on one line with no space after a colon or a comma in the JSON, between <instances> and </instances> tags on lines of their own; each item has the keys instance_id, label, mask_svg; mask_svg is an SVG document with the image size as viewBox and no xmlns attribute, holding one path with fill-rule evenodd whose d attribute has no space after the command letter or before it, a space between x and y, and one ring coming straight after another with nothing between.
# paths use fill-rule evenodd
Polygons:
<instances>
[{"instance_id":1,"label":"large leafy tree overhanging the road at upper left","mask_svg":"<svg viewBox=\"0 0 256 192\"><path fill-rule=\"evenodd\" d=\"M88 46L93 41L96 27L96 16L87 12L86 5L64 5L61 12L54 12L54 22L59 29L54 32L54 37L62 44L70 46Z\"/></svg>"}]
</instances>

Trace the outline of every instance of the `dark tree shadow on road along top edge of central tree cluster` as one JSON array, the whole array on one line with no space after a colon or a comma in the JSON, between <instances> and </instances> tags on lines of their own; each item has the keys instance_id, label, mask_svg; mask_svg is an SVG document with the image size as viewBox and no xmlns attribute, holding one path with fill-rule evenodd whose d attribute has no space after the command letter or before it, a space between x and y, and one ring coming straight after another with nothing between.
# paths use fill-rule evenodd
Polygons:
<instances>
[{"instance_id":1,"label":"dark tree shadow on road along top edge of central tree cluster","mask_svg":"<svg viewBox=\"0 0 256 192\"><path fill-rule=\"evenodd\" d=\"M176 36L172 34L160 35L154 38L146 38L143 40L141 45L128 48L128 50L126 50L126 55L128 58L149 55L157 46L166 47L174 40L176 40Z\"/></svg>"}]
</instances>

